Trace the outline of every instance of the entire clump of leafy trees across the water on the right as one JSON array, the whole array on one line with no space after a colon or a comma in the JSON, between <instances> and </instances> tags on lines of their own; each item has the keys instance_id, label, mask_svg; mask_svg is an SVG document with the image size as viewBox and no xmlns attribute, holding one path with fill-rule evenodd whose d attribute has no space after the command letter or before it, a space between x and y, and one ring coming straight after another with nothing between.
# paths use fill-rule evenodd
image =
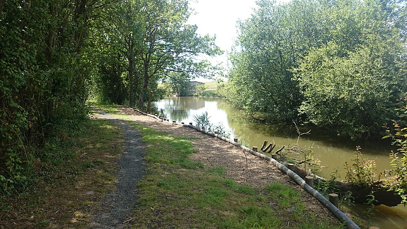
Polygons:
<instances>
[{"instance_id":1,"label":"entire clump of leafy trees across the water on the right","mask_svg":"<svg viewBox=\"0 0 407 229\"><path fill-rule=\"evenodd\" d=\"M406 88L406 8L395 0L257 2L230 55L228 99L270 123L354 139L396 119Z\"/></svg>"}]
</instances>

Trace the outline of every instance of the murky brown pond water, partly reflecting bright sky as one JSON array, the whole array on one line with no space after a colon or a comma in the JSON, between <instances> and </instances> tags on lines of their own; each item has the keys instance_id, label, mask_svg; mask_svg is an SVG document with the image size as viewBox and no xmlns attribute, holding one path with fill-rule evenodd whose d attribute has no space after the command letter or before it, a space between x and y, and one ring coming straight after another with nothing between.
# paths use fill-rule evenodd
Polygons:
<instances>
[{"instance_id":1,"label":"murky brown pond water, partly reflecting bright sky","mask_svg":"<svg viewBox=\"0 0 407 229\"><path fill-rule=\"evenodd\" d=\"M200 98L200 97L170 97L164 98L152 105L157 110L162 110L166 119L177 120L193 124L193 116L201 115L208 111L210 121L218 125L221 123L231 134L231 138L239 138L239 142L244 142L250 147L261 147L264 140L269 142L274 140L276 148L281 146L292 146L297 142L298 134L293 127L267 126L253 122L246 117L244 111L237 110L227 101L218 98ZM370 144L364 142L343 141L335 137L329 137L324 133L317 133L311 130L310 135L302 135L299 145L303 148L312 146L313 157L321 161L325 166L318 175L330 178L330 175L337 170L338 180L345 178L345 162L352 164L355 158L356 144L362 146L364 158L375 159L377 172L384 169L390 169L390 160L388 153L390 146L388 142L378 141ZM295 157L297 155L290 155ZM354 212L361 213L366 207L358 205L352 208ZM399 205L397 207L376 206L375 219L372 225L380 228L407 228L407 208Z\"/></svg>"}]
</instances>

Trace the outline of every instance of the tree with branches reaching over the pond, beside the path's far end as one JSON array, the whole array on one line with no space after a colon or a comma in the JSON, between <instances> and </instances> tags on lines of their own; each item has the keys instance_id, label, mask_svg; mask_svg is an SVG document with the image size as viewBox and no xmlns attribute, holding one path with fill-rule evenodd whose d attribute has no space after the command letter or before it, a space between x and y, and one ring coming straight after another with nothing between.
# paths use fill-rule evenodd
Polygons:
<instances>
[{"instance_id":1,"label":"tree with branches reaching over the pond, beside the path's far end","mask_svg":"<svg viewBox=\"0 0 407 229\"><path fill-rule=\"evenodd\" d=\"M220 54L214 38L196 34L196 25L188 25L188 1L142 1L140 18L143 48L138 53L142 87L138 107L143 106L148 83L170 72L209 77L213 72L208 61L197 61L200 54Z\"/></svg>"}]
</instances>

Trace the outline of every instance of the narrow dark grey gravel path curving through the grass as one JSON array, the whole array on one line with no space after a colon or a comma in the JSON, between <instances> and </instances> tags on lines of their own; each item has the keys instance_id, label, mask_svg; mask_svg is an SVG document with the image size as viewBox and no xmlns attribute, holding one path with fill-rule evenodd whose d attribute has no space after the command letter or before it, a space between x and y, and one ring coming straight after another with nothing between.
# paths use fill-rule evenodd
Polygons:
<instances>
[{"instance_id":1,"label":"narrow dark grey gravel path curving through the grass","mask_svg":"<svg viewBox=\"0 0 407 229\"><path fill-rule=\"evenodd\" d=\"M136 204L136 185L144 174L144 151L146 144L141 140L137 129L122 120L113 118L102 111L96 111L97 119L109 119L120 125L125 134L126 144L124 153L119 160L119 174L117 175L117 192L107 193L106 200L100 210L94 215L92 228L123 228L126 227L127 216L132 206Z\"/></svg>"}]
</instances>

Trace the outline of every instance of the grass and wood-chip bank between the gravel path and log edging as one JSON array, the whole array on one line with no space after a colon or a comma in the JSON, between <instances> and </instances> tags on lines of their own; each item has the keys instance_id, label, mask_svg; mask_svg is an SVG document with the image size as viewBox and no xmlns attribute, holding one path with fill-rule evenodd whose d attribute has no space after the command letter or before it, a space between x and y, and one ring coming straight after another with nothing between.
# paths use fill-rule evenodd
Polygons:
<instances>
[{"instance_id":1,"label":"grass and wood-chip bank between the gravel path and log edging","mask_svg":"<svg viewBox=\"0 0 407 229\"><path fill-rule=\"evenodd\" d=\"M116 113L134 121L149 144L149 175L139 187L135 210L135 219L147 218L134 220L136 227L339 226L326 208L267 161L247 154L246 164L240 148L131 108Z\"/></svg>"}]
</instances>

